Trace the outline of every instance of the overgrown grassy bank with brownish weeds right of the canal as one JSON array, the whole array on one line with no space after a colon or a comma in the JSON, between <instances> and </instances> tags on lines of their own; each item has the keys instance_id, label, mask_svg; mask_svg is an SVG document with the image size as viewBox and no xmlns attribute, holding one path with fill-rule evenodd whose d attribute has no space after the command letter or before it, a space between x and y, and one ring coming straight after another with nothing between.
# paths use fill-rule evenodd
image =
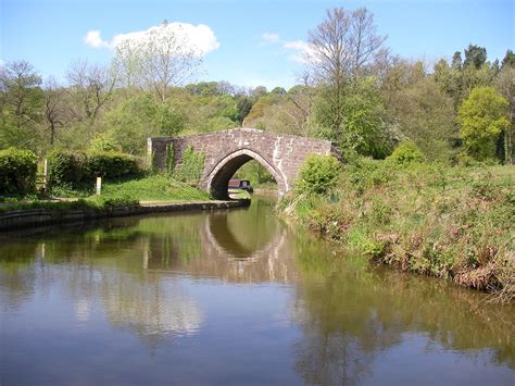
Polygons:
<instances>
[{"instance_id":1,"label":"overgrown grassy bank with brownish weeds right of the canal","mask_svg":"<svg viewBox=\"0 0 515 386\"><path fill-rule=\"evenodd\" d=\"M515 169L395 166L357 160L325 195L280 208L374 262L515 295Z\"/></svg>"}]
</instances>

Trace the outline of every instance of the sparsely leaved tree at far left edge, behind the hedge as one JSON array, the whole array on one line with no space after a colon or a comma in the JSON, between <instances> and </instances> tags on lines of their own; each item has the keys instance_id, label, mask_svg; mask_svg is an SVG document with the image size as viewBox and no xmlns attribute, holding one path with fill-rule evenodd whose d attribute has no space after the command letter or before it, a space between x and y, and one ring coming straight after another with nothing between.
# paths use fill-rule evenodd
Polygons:
<instances>
[{"instance_id":1,"label":"sparsely leaved tree at far left edge, behind the hedge","mask_svg":"<svg viewBox=\"0 0 515 386\"><path fill-rule=\"evenodd\" d=\"M41 77L26 61L0 69L0 147L36 150L37 124L41 121Z\"/></svg>"}]
</instances>

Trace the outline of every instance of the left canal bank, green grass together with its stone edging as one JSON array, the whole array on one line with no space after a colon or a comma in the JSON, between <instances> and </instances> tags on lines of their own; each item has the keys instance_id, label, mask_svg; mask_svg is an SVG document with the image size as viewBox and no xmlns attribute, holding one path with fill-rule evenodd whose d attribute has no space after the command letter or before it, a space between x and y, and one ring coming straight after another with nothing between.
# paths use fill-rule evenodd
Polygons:
<instances>
[{"instance_id":1,"label":"left canal bank, green grass together with its stone edging","mask_svg":"<svg viewBox=\"0 0 515 386\"><path fill-rule=\"evenodd\" d=\"M88 221L155 212L217 210L247 207L250 200L214 201L208 192L164 174L112 180L101 195L92 187L54 188L47 199L4 199L0 202L0 231L63 222Z\"/></svg>"}]
</instances>

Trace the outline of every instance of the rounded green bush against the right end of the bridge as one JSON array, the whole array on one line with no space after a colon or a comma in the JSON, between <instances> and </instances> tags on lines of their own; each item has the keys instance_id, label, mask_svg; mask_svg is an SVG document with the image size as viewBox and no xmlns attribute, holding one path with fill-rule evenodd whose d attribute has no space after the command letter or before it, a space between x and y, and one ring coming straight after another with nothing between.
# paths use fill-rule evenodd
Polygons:
<instances>
[{"instance_id":1,"label":"rounded green bush against the right end of the bridge","mask_svg":"<svg viewBox=\"0 0 515 386\"><path fill-rule=\"evenodd\" d=\"M340 163L332 155L310 155L300 170L299 192L323 195L335 186Z\"/></svg>"}]
</instances>

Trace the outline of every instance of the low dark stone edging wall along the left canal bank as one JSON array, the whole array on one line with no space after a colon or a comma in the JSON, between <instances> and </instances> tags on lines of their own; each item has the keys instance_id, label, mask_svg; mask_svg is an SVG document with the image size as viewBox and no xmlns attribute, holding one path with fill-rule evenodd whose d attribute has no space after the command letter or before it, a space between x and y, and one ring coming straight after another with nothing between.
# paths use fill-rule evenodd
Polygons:
<instances>
[{"instance_id":1,"label":"low dark stone edging wall along the left canal bank","mask_svg":"<svg viewBox=\"0 0 515 386\"><path fill-rule=\"evenodd\" d=\"M250 200L197 201L197 202L106 202L95 206L87 201L72 201L66 206L55 203L47 208L21 209L0 213L0 232L20 227L83 222L88 220L121 217L159 212L222 210L250 206Z\"/></svg>"}]
</instances>

